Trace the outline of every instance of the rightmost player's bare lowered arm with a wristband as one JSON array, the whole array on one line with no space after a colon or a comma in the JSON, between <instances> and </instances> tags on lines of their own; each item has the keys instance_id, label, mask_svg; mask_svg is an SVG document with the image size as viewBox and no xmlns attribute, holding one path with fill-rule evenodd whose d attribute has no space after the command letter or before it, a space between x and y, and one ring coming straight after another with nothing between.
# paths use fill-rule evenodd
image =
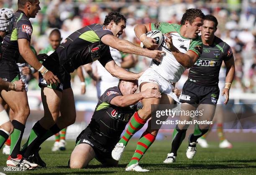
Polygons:
<instances>
[{"instance_id":1,"label":"rightmost player's bare lowered arm with a wristband","mask_svg":"<svg viewBox=\"0 0 256 175\"><path fill-rule=\"evenodd\" d=\"M224 63L225 63L227 70L226 70L225 87L222 90L222 95L225 94L225 96L226 96L226 100L224 102L224 104L226 105L229 101L229 90L230 90L231 84L234 80L236 69L235 69L234 57L231 57L229 60L224 61Z\"/></svg>"}]
</instances>

